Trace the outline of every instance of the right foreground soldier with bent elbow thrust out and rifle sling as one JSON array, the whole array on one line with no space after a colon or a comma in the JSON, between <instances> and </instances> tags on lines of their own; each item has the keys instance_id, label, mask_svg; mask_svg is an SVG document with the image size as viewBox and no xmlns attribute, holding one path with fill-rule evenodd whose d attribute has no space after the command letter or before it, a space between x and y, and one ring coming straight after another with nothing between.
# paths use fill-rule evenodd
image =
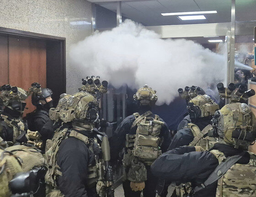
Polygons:
<instances>
[{"instance_id":1,"label":"right foreground soldier with bent elbow thrust out and rifle sling","mask_svg":"<svg viewBox=\"0 0 256 197\"><path fill-rule=\"evenodd\" d=\"M208 151L182 146L162 154L152 173L166 181L192 183L191 197L255 197L256 118L244 103L226 104L213 116L211 132L220 140Z\"/></svg>"}]
</instances>

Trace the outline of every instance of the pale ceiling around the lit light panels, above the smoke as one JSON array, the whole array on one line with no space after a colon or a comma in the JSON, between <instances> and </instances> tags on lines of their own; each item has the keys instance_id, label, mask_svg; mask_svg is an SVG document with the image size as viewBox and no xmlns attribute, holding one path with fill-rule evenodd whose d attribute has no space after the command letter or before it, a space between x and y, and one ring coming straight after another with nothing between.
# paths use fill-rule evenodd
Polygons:
<instances>
[{"instance_id":1,"label":"pale ceiling around the lit light panels, above the smoke","mask_svg":"<svg viewBox=\"0 0 256 197\"><path fill-rule=\"evenodd\" d=\"M113 1L90 1L116 12L117 6ZM197 21L181 21L177 16L161 15L165 12L208 10L217 10L218 13L205 14L207 20ZM122 2L122 15L145 26L230 22L231 0L125 0ZM256 20L256 0L236 0L236 21L253 20Z\"/></svg>"}]
</instances>

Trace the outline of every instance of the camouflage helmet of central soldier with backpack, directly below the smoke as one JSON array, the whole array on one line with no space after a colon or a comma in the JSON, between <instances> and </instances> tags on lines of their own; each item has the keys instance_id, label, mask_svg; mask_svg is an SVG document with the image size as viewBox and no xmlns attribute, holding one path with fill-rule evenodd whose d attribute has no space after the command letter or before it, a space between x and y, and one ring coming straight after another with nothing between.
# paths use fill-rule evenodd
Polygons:
<instances>
[{"instance_id":1,"label":"camouflage helmet of central soldier with backpack, directly below the smoke","mask_svg":"<svg viewBox=\"0 0 256 197\"><path fill-rule=\"evenodd\" d=\"M143 88L139 88L137 93L133 95L135 101L139 101L140 105L154 105L157 101L156 91L149 88L148 85L144 85Z\"/></svg>"}]
</instances>

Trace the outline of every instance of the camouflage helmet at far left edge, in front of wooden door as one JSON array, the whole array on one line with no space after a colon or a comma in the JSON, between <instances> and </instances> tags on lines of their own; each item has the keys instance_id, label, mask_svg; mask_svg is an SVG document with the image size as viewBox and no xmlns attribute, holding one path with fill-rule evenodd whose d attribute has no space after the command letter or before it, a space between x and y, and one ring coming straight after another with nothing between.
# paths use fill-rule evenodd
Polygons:
<instances>
[{"instance_id":1,"label":"camouflage helmet at far left edge, in front of wooden door","mask_svg":"<svg viewBox=\"0 0 256 197\"><path fill-rule=\"evenodd\" d=\"M2 99L4 106L23 113L26 106L24 101L29 96L26 90L5 84L0 87L0 91L0 99Z\"/></svg>"}]
</instances>

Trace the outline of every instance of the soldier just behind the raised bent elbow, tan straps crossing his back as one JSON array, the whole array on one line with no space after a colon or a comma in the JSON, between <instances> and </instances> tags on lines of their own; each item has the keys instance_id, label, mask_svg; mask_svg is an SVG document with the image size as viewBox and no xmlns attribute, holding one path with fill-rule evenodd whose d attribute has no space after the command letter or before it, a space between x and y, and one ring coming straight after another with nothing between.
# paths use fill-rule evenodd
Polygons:
<instances>
[{"instance_id":1,"label":"soldier just behind the raised bent elbow, tan straps crossing his back","mask_svg":"<svg viewBox=\"0 0 256 197\"><path fill-rule=\"evenodd\" d=\"M208 95L197 95L190 99L187 103L188 114L190 120L182 122L183 126L179 125L180 130L174 135L171 145L168 150L183 146L183 145L201 145L203 149L209 149L210 141L215 141L207 136L207 125L211 123L211 119L219 109ZM204 130L205 129L205 130Z\"/></svg>"}]
</instances>

